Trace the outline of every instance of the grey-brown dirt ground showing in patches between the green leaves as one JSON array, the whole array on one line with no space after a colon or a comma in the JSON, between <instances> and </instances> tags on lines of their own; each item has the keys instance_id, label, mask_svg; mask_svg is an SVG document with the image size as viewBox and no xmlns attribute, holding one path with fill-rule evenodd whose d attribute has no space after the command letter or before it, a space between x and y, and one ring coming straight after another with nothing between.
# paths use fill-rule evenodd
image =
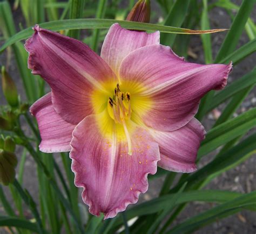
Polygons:
<instances>
[{"instance_id":1,"label":"grey-brown dirt ground showing in patches between the green leaves","mask_svg":"<svg viewBox=\"0 0 256 234\"><path fill-rule=\"evenodd\" d=\"M153 1L152 1L153 2ZM213 2L213 1L211 1ZM240 0L233 0L232 2L236 4L241 4ZM153 4L154 7L154 4ZM256 20L256 8L253 9L252 18L255 22ZM21 21L20 15L15 15L15 20L18 23ZM229 16L224 10L219 8L213 9L210 13L211 27L212 28L228 28L231 25L231 21ZM17 24L18 25L18 24ZM220 48L221 43L225 38L225 32L212 34L212 44L213 44L213 55L215 56ZM248 37L246 33L243 34L242 38L239 41L238 47L244 45L248 41ZM1 45L1 44L0 44ZM201 40L199 36L192 36L190 47L197 55L196 59L189 58L189 60L204 63L204 54L203 47L201 45ZM22 87L22 81L18 75L15 61L11 60L11 66L9 72L11 76L15 79L16 84L18 86L19 93L21 94L22 99L25 99L24 90ZM231 83L235 79L238 79L242 75L246 74L250 70L252 70L256 63L256 54L252 54L248 56L244 61L240 62L233 69L233 72L228 79L228 83ZM5 53L0 55L0 65L5 64ZM0 104L5 104L4 97L1 92ZM219 111L223 109L225 105L221 105ZM247 96L246 100L241 104L238 111L235 115L241 114L241 112L247 111L248 109L256 107L256 89L251 92L250 95ZM206 127L206 130L210 129L212 124L214 123L213 114L208 114L207 118L204 119L203 124ZM255 131L252 130L252 131ZM251 132L252 132L251 131ZM250 134L250 133L248 133ZM18 150L20 152L20 150ZM206 157L206 159L198 165L198 168L201 168L205 165L211 158L212 155ZM56 155L56 160L59 164L61 164L61 159ZM24 175L24 186L33 197L38 196L38 186L36 181L36 166L31 157L28 156L28 159L25 162L25 175ZM150 200L152 197L156 197L159 193L159 189L161 187L161 183L164 178L160 178L150 182L149 191L140 196L139 201ZM221 190L231 190L240 193L250 193L252 190L256 189L256 157L251 157L241 165L236 168L231 169L230 171L221 174L218 178L214 179L209 185L207 185L206 189L221 189ZM214 204L205 204L201 202L192 202L185 210L181 213L181 215L177 218L176 223L180 223L188 217L192 217L194 215L199 214L200 212L207 210L213 207ZM0 213L3 211L3 208L0 204ZM0 229L0 233L2 233ZM251 234L256 233L256 213L249 211L242 211L239 214L221 219L220 221L206 226L199 231L196 231L197 234L211 234L211 233L228 233L228 234Z\"/></svg>"}]
</instances>

